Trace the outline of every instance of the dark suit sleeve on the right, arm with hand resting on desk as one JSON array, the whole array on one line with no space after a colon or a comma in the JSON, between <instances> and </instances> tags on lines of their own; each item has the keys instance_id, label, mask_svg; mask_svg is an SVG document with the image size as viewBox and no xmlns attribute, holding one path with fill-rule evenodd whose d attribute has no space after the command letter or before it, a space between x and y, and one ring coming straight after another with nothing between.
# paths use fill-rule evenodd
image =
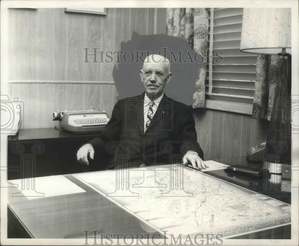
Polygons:
<instances>
[{"instance_id":1,"label":"dark suit sleeve on the right, arm with hand resting on desk","mask_svg":"<svg viewBox=\"0 0 299 246\"><path fill-rule=\"evenodd\" d=\"M199 157L204 160L204 153L197 142L197 134L195 129L195 121L192 115L192 107L187 107L186 110L182 110L182 117L180 123L180 131L178 140L190 142L193 145Z\"/></svg>"}]
</instances>

